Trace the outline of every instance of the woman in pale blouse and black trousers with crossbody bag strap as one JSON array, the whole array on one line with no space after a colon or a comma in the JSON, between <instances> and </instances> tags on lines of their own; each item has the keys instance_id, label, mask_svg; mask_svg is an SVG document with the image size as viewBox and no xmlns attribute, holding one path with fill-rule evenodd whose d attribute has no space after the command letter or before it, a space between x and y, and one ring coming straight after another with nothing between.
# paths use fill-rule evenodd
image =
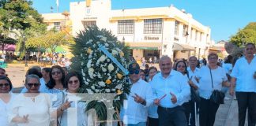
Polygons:
<instances>
[{"instance_id":1,"label":"woman in pale blouse and black trousers with crossbody bag strap","mask_svg":"<svg viewBox=\"0 0 256 126\"><path fill-rule=\"evenodd\" d=\"M196 74L201 97L199 107L200 126L213 126L220 104L209 100L213 90L221 91L221 88L229 87L225 69L217 65L218 55L215 53L208 56L209 65L202 66Z\"/></svg>"}]
</instances>

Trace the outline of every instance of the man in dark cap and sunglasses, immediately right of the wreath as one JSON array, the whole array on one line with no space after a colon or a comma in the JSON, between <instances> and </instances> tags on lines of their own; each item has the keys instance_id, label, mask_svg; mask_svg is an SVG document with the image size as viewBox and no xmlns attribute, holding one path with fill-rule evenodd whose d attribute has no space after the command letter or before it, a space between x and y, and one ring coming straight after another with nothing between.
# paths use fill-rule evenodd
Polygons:
<instances>
[{"instance_id":1,"label":"man in dark cap and sunglasses, immediately right of the wreath","mask_svg":"<svg viewBox=\"0 0 256 126\"><path fill-rule=\"evenodd\" d=\"M148 107L154 99L152 89L148 83L141 80L140 66L137 63L131 63L128 70L132 86L121 110L121 114L124 114L122 120L126 126L146 126Z\"/></svg>"}]
</instances>

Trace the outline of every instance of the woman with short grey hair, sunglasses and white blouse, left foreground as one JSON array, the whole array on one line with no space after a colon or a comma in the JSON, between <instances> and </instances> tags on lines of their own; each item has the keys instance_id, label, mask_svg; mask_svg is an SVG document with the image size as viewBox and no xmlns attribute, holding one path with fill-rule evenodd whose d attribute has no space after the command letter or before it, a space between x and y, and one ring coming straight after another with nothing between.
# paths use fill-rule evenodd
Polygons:
<instances>
[{"instance_id":1,"label":"woman with short grey hair, sunglasses and white blouse, left foreground","mask_svg":"<svg viewBox=\"0 0 256 126\"><path fill-rule=\"evenodd\" d=\"M49 95L39 91L40 78L36 75L26 76L26 93L17 95L9 110L9 122L18 126L49 126L51 100Z\"/></svg>"}]
</instances>

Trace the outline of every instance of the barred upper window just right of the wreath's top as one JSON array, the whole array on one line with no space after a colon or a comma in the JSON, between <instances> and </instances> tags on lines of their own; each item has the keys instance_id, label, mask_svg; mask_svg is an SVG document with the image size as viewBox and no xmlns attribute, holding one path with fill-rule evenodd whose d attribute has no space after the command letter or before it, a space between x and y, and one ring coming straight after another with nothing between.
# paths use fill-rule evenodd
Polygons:
<instances>
[{"instance_id":1,"label":"barred upper window just right of the wreath's top","mask_svg":"<svg viewBox=\"0 0 256 126\"><path fill-rule=\"evenodd\" d=\"M119 20L118 34L134 34L134 20Z\"/></svg>"}]
</instances>

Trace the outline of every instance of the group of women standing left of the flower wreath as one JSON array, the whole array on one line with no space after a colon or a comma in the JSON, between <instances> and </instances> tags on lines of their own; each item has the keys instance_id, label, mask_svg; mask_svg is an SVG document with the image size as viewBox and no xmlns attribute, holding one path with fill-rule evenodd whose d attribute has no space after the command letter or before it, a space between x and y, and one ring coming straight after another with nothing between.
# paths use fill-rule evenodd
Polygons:
<instances>
[{"instance_id":1,"label":"group of women standing left of the flower wreath","mask_svg":"<svg viewBox=\"0 0 256 126\"><path fill-rule=\"evenodd\" d=\"M70 101L76 97L82 79L77 72L66 72L65 68L55 65L51 68L32 67L25 76L24 89L13 94L13 84L0 69L0 125L49 126L87 125L87 103ZM69 108L78 111L68 113ZM68 121L67 117L77 117ZM77 114L77 115L74 115ZM74 124L77 123L77 124Z\"/></svg>"}]
</instances>

